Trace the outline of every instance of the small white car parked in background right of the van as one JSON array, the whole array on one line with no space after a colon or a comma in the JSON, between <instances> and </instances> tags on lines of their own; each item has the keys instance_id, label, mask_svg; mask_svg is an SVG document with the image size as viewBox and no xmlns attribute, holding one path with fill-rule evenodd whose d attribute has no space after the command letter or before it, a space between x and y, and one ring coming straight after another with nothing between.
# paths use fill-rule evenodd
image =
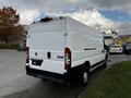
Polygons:
<instances>
[{"instance_id":1,"label":"small white car parked in background right of the van","mask_svg":"<svg viewBox=\"0 0 131 98\"><path fill-rule=\"evenodd\" d=\"M109 47L109 53L122 53L123 49L120 45L111 45Z\"/></svg>"}]
</instances>

